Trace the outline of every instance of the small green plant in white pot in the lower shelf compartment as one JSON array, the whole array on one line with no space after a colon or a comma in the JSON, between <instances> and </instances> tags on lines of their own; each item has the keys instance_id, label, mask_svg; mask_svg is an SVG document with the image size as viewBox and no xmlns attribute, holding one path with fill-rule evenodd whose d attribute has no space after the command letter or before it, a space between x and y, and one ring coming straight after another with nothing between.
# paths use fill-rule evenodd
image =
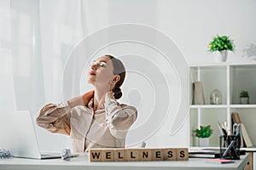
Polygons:
<instances>
[{"instance_id":1,"label":"small green plant in white pot in the lower shelf compartment","mask_svg":"<svg viewBox=\"0 0 256 170\"><path fill-rule=\"evenodd\" d=\"M200 126L200 128L195 129L195 136L199 138L199 146L208 146L209 138L212 136L211 125Z\"/></svg>"}]
</instances>

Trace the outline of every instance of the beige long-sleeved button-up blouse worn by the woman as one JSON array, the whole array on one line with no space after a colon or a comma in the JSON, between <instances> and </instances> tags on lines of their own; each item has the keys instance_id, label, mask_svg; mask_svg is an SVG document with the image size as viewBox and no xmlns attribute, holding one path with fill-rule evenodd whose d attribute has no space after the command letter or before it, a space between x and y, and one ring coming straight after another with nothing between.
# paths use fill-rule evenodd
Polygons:
<instances>
[{"instance_id":1,"label":"beige long-sleeved button-up blouse worn by the woman","mask_svg":"<svg viewBox=\"0 0 256 170\"><path fill-rule=\"evenodd\" d=\"M38 113L38 126L51 133L70 136L73 152L84 152L90 148L125 147L125 135L137 119L137 109L120 105L106 95L104 110L93 111L93 99L88 107L82 97L59 105L45 105Z\"/></svg>"}]
</instances>

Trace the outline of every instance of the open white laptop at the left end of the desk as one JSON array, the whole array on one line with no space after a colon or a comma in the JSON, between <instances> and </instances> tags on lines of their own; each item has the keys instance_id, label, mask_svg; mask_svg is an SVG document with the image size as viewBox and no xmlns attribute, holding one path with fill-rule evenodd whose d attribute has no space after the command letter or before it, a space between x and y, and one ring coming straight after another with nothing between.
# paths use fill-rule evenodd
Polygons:
<instances>
[{"instance_id":1,"label":"open white laptop at the left end of the desk","mask_svg":"<svg viewBox=\"0 0 256 170\"><path fill-rule=\"evenodd\" d=\"M61 158L61 153L41 153L29 111L0 113L0 148L12 156L49 159Z\"/></svg>"}]
</instances>

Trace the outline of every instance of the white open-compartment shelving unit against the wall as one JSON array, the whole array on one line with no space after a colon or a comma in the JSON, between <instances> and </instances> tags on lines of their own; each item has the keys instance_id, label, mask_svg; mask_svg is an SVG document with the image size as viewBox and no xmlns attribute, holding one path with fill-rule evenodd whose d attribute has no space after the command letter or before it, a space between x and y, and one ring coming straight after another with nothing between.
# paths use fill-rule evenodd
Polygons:
<instances>
[{"instance_id":1,"label":"white open-compartment shelving unit against the wall","mask_svg":"<svg viewBox=\"0 0 256 170\"><path fill-rule=\"evenodd\" d=\"M253 145L256 145L256 64L212 64L190 65L192 82L202 82L206 105L190 105L190 146L198 146L193 130L200 125L210 124L213 129L210 146L218 147L218 122L227 122L231 132L231 113L238 112L241 122L247 128ZM222 94L222 105L210 105L210 94L218 89ZM239 104L241 90L250 95L250 105ZM191 97L192 98L192 97Z\"/></svg>"}]
</instances>

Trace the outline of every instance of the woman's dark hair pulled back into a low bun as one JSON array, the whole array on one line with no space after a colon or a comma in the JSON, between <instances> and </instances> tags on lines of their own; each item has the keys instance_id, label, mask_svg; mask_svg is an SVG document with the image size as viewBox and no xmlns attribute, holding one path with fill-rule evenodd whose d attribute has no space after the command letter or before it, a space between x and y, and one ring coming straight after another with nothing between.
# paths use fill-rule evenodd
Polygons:
<instances>
[{"instance_id":1,"label":"woman's dark hair pulled back into a low bun","mask_svg":"<svg viewBox=\"0 0 256 170\"><path fill-rule=\"evenodd\" d=\"M120 80L116 82L113 88L113 97L114 99L120 99L122 97L122 91L120 87L122 86L123 82L125 81L125 65L119 59L113 57L112 55L106 55L111 59L113 64L113 75L119 75Z\"/></svg>"}]
</instances>

